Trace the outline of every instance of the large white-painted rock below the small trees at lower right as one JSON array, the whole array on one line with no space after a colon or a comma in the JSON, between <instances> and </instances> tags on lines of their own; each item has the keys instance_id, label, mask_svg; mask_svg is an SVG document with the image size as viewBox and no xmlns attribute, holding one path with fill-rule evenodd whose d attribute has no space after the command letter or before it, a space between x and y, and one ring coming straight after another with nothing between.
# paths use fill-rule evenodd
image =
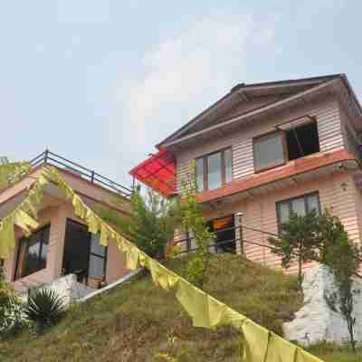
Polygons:
<instances>
[{"instance_id":1,"label":"large white-painted rock below the small trees at lower right","mask_svg":"<svg viewBox=\"0 0 362 362\"><path fill-rule=\"evenodd\" d=\"M362 283L355 281L354 326L355 339L362 341ZM349 340L346 320L331 310L325 294L336 290L333 274L324 265L306 271L302 283L304 306L296 313L295 319L283 324L284 337L308 346L320 341L344 343Z\"/></svg>"}]
</instances>

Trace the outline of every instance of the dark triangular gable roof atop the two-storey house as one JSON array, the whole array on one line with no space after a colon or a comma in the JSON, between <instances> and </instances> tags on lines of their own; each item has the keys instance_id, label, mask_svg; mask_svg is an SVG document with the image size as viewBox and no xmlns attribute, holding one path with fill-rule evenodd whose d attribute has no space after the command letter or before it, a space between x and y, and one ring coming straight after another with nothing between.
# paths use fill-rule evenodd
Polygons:
<instances>
[{"instance_id":1,"label":"dark triangular gable roof atop the two-storey house","mask_svg":"<svg viewBox=\"0 0 362 362\"><path fill-rule=\"evenodd\" d=\"M292 95L298 94L305 90L310 90L322 83L332 81L334 79L343 78L344 74L330 74L313 78L301 78L297 80L285 81L268 81L263 83L237 84L224 95L220 100L217 100L212 106L191 119L176 132L165 138L157 145L157 148L162 148L169 142L175 141L178 138L185 137L193 132L197 132L217 123L223 123L230 119L231 115L243 114L243 106L246 111L255 110L258 107L264 107L273 102L286 99ZM251 108L249 103L256 101L255 108ZM240 107L239 113L233 113L233 110ZM229 116L229 117L228 117Z\"/></svg>"}]
</instances>

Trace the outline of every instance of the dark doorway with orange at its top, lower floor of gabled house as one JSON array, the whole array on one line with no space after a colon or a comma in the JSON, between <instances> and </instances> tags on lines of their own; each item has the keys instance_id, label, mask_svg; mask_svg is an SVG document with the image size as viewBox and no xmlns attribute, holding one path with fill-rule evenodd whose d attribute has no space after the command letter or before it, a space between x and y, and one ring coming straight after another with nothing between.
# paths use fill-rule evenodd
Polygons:
<instances>
[{"instance_id":1,"label":"dark doorway with orange at its top, lower floor of gabled house","mask_svg":"<svg viewBox=\"0 0 362 362\"><path fill-rule=\"evenodd\" d=\"M233 215L207 222L211 232L216 234L215 252L235 252L235 223Z\"/></svg>"}]
</instances>

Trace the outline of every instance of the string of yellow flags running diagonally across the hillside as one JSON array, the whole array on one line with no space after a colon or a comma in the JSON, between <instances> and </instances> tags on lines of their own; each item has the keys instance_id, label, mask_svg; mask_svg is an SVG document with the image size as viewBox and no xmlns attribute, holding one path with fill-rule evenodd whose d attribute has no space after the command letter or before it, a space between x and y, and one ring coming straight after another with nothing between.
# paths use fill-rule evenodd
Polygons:
<instances>
[{"instance_id":1,"label":"string of yellow flags running diagonally across the hillside","mask_svg":"<svg viewBox=\"0 0 362 362\"><path fill-rule=\"evenodd\" d=\"M100 244L107 246L109 240L114 241L120 252L126 254L126 265L129 270L142 266L150 271L154 283L166 291L174 291L195 327L215 329L229 325L243 334L243 361L247 362L322 362L304 349L297 347L284 338L263 328L251 319L243 316L223 302L216 300L205 291L201 291L186 279L170 271L130 243L124 236L104 222L99 215L86 205L71 186L68 186L55 167L43 167L42 173L34 177L33 186L28 196L8 214L0 224L0 258L5 258L14 249L14 225L25 233L38 227L36 222L36 206L40 205L43 191L49 183L60 187L71 200L74 213L89 228L90 233L100 233Z\"/></svg>"}]
</instances>

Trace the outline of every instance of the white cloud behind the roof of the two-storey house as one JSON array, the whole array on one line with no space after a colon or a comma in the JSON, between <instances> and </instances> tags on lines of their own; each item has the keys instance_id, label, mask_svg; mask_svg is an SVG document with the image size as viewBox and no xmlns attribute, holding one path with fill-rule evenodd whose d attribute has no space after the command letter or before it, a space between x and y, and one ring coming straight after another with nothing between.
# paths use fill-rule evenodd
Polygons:
<instances>
[{"instance_id":1,"label":"white cloud behind the roof of the two-storey house","mask_svg":"<svg viewBox=\"0 0 362 362\"><path fill-rule=\"evenodd\" d=\"M245 81L252 55L280 52L274 45L276 21L275 16L216 14L158 43L140 62L142 75L122 79L117 90L122 120L110 122L110 138L117 134L119 147L129 145L135 158L145 157L170 132Z\"/></svg>"}]
</instances>

